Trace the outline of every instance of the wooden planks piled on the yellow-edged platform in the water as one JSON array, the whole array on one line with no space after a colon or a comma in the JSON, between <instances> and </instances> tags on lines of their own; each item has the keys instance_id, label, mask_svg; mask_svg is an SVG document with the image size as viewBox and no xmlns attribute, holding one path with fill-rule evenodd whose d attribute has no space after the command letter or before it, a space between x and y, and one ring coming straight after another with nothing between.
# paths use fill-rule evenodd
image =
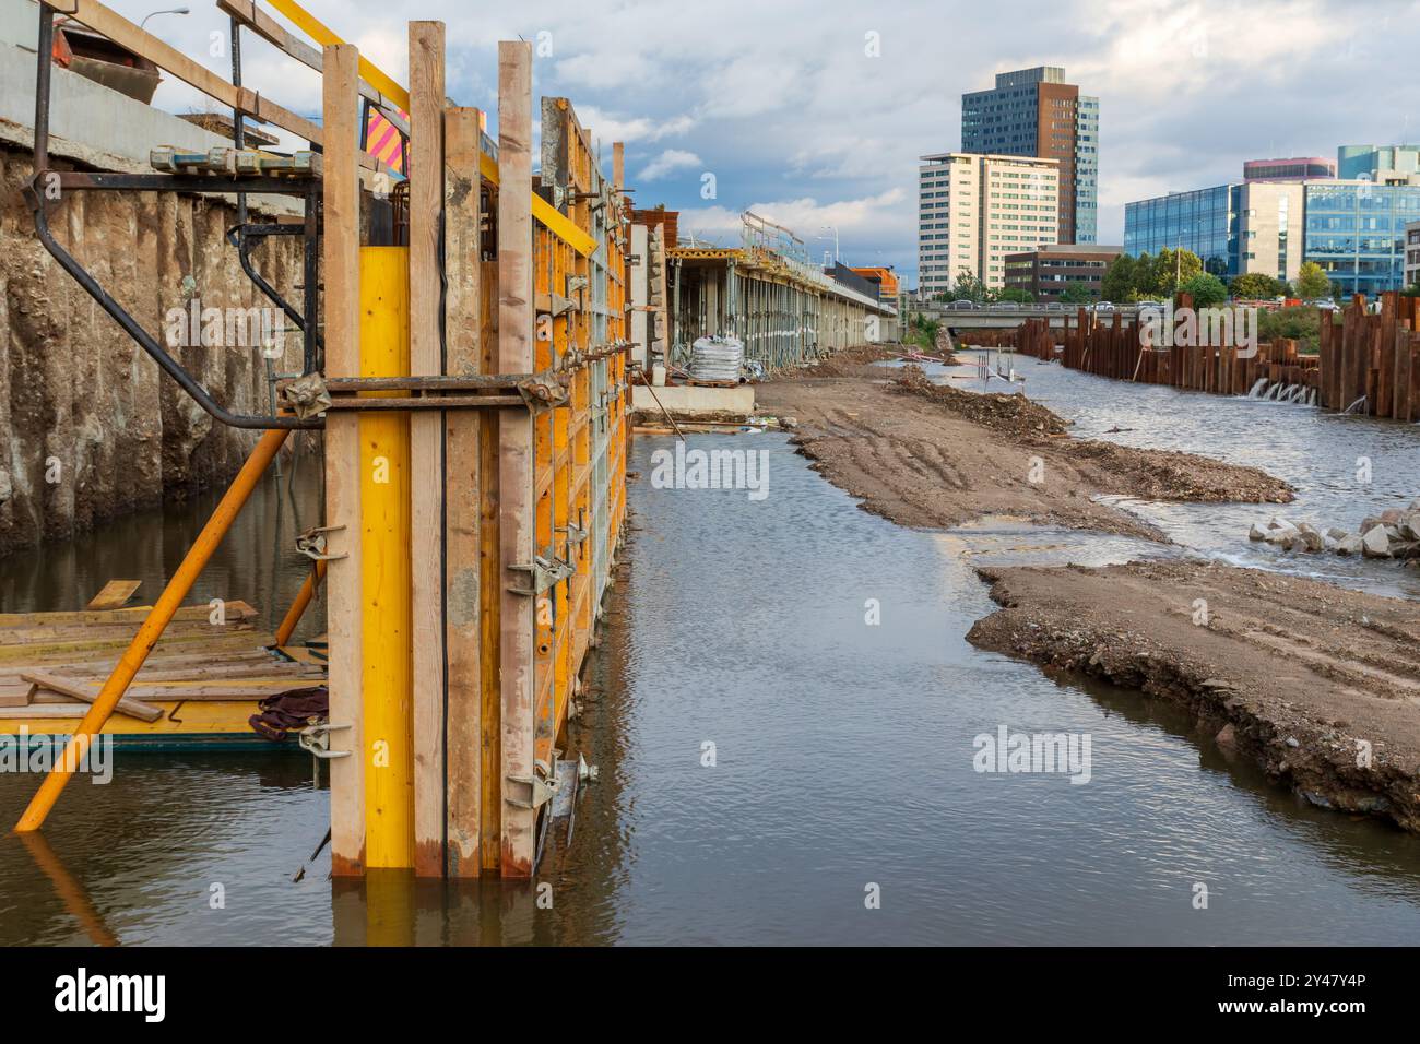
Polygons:
<instances>
[{"instance_id":1,"label":"wooden planks piled on the yellow-edged platform in the water","mask_svg":"<svg viewBox=\"0 0 1420 1044\"><path fill-rule=\"evenodd\" d=\"M138 672L118 713L156 722L163 703L256 702L320 685L320 663L267 651L257 611L226 602L222 622L206 605L178 611ZM0 614L0 722L82 717L148 615L146 608Z\"/></svg>"}]
</instances>

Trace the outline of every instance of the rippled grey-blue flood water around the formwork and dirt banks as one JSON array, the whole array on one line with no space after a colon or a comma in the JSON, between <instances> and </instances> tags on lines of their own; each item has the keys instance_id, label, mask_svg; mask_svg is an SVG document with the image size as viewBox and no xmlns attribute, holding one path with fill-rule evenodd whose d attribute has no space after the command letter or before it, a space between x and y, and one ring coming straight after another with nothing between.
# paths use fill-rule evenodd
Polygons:
<instances>
[{"instance_id":1,"label":"rippled grey-blue flood water around the formwork and dirt banks","mask_svg":"<svg viewBox=\"0 0 1420 1044\"><path fill-rule=\"evenodd\" d=\"M1032 361L1022 369L1032 396L1082 436L1265 463L1301 489L1298 504L1279 509L1294 518L1355 527L1420 494L1417 428ZM1108 428L1137 430L1102 435ZM579 803L571 847L541 868L551 909L534 889L501 883L416 886L385 875L332 886L324 852L293 882L328 824L328 795L302 756L133 756L109 785L71 785L45 848L0 838L0 942L1420 939L1420 838L1312 808L1225 761L1166 703L1051 678L964 639L995 608L974 574L983 562L1194 553L1326 570L1411 597L1413 574L1345 560L1298 565L1250 545L1248 523L1271 507L1129 504L1181 551L993 520L905 530L858 510L784 436L690 440L765 450L768 496L652 489L650 455L673 440L636 440L628 567L568 737L601 780ZM1369 490L1346 484L1356 456L1373 460ZM253 526L253 547L278 545L270 516ZM152 531L121 537L131 557ZM108 541L97 534L75 561L116 554ZM284 605L302 572L280 562L268 553L267 580L237 574L229 587ZM4 608L70 608L34 604L57 597L36 568L0 562ZM92 578L82 575L82 589ZM870 624L875 607L880 622ZM974 737L1003 724L1088 733L1089 781L974 771ZM17 815L34 784L0 776L0 814ZM1200 885L1207 909L1194 908ZM880 908L868 909L875 886Z\"/></svg>"}]
</instances>

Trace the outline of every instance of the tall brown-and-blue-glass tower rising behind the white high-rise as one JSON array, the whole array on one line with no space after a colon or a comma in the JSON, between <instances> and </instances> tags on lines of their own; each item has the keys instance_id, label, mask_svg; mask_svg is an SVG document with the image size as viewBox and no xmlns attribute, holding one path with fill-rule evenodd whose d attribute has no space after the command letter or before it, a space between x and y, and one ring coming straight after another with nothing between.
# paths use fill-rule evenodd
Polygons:
<instances>
[{"instance_id":1,"label":"tall brown-and-blue-glass tower rising behind the white high-rise","mask_svg":"<svg viewBox=\"0 0 1420 1044\"><path fill-rule=\"evenodd\" d=\"M1093 243L1099 213L1099 98L1055 65L1000 72L961 95L961 151L1059 161L1059 241Z\"/></svg>"}]
</instances>

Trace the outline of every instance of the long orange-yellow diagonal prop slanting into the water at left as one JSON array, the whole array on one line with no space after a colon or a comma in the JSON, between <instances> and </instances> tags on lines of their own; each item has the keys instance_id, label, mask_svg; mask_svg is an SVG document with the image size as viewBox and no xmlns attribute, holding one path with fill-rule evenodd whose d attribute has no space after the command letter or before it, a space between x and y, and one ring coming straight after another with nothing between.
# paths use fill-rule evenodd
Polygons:
<instances>
[{"instance_id":1,"label":"long orange-yellow diagonal prop slanting into the water at left","mask_svg":"<svg viewBox=\"0 0 1420 1044\"><path fill-rule=\"evenodd\" d=\"M23 834L44 825L45 817L64 791L64 784L70 781L70 776L78 768L80 760L88 753L94 737L114 713L114 707L124 699L124 693L128 692L133 675L143 666L143 660L148 659L148 653L158 645L158 639L163 636L163 631L168 628L169 621L172 621L173 614L178 612L178 607L182 605L183 598L192 591L192 585L202 575L202 570L207 564L207 560L212 558L212 553L217 550L217 544L227 535L227 530L231 528L231 523L241 510L241 506L247 503L247 497L256 489L257 480L266 472L273 457L275 457L277 450L281 449L281 443L285 442L285 436L290 433L287 428L275 428L261 435L256 449L251 450L251 456L247 457L247 463L241 466L237 477L231 480L231 486L223 494L217 510L212 513L207 524L202 527L202 533L197 534L197 540L193 541L187 555L182 560L182 565L178 567L172 580L168 581L168 587L163 589L158 604L148 614L148 619L138 629L138 635L128 646L128 651L114 666L114 673L104 682L104 687L99 690L98 699L94 700L94 706L89 707L84 720L80 722L80 727L74 730L74 737L70 740L68 747L65 747L64 757L55 758L54 767L44 777L40 790L30 798L28 808L24 810L24 815L16 824L16 831Z\"/></svg>"}]
</instances>

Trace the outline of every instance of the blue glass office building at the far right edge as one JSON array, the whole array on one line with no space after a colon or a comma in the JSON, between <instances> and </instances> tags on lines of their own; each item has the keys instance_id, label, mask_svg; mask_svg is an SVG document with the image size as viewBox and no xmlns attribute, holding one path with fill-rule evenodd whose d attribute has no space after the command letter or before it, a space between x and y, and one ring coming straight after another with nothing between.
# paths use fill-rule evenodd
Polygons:
<instances>
[{"instance_id":1,"label":"blue glass office building at the far right edge","mask_svg":"<svg viewBox=\"0 0 1420 1044\"><path fill-rule=\"evenodd\" d=\"M1306 185L1302 256L1339 294L1404 287L1406 223L1420 220L1420 185Z\"/></svg>"}]
</instances>

